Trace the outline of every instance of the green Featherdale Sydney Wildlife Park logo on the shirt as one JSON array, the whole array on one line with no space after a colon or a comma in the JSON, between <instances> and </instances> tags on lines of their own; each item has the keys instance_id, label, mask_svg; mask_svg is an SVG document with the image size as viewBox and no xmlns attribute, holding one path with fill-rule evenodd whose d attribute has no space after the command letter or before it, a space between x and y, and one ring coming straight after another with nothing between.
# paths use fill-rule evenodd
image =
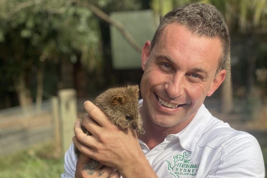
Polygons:
<instances>
[{"instance_id":1,"label":"green Featherdale Sydney Wildlife Park logo on the shirt","mask_svg":"<svg viewBox=\"0 0 267 178\"><path fill-rule=\"evenodd\" d=\"M173 166L172 163L166 160L171 175L177 178L179 178L179 175L184 175L184 176L196 175L199 164L190 163L191 159L188 158L190 154L191 153L187 154L186 151L184 151L183 155L177 154L176 156L173 156L173 163L174 163Z\"/></svg>"}]
</instances>

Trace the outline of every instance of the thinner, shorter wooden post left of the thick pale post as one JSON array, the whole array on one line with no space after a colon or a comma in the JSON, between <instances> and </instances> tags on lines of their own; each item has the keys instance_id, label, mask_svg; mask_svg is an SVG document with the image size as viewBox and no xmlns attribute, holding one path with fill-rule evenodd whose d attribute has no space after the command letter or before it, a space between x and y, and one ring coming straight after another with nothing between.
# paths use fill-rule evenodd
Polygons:
<instances>
[{"instance_id":1,"label":"thinner, shorter wooden post left of the thick pale post","mask_svg":"<svg viewBox=\"0 0 267 178\"><path fill-rule=\"evenodd\" d=\"M61 133L61 126L60 126L60 119L59 119L59 99L58 97L51 98L52 103L52 118L54 124L54 139L55 139L55 146L60 151L62 150L61 140L60 140L60 133Z\"/></svg>"}]
</instances>

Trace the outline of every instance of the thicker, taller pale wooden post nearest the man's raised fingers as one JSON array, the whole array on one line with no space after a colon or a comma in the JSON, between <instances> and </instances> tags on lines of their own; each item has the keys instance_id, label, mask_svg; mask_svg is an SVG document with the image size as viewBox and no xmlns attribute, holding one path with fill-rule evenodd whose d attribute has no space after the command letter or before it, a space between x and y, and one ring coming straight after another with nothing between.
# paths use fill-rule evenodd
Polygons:
<instances>
[{"instance_id":1,"label":"thicker, taller pale wooden post nearest the man's raised fingers","mask_svg":"<svg viewBox=\"0 0 267 178\"><path fill-rule=\"evenodd\" d=\"M61 143L62 152L66 153L72 144L74 136L74 123L77 120L77 98L75 89L62 89L59 91L60 120L62 124Z\"/></svg>"}]
</instances>

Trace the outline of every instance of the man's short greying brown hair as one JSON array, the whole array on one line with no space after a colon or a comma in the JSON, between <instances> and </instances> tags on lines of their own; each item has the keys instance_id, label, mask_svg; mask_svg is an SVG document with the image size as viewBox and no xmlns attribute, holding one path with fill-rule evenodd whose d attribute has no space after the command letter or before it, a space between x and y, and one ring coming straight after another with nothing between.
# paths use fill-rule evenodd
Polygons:
<instances>
[{"instance_id":1,"label":"man's short greying brown hair","mask_svg":"<svg viewBox=\"0 0 267 178\"><path fill-rule=\"evenodd\" d=\"M160 20L160 25L151 41L150 50L155 46L164 28L172 23L185 25L192 33L198 36L218 37L221 40L223 51L216 74L224 68L224 63L230 50L230 38L223 17L216 7L199 3L170 11Z\"/></svg>"}]
</instances>

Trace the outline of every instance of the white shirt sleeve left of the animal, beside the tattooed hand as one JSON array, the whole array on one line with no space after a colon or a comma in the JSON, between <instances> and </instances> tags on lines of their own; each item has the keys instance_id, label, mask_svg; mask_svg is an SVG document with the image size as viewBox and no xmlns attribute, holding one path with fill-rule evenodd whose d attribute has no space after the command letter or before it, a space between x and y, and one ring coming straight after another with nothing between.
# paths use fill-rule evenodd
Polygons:
<instances>
[{"instance_id":1,"label":"white shirt sleeve left of the animal, beside the tattooed hand","mask_svg":"<svg viewBox=\"0 0 267 178\"><path fill-rule=\"evenodd\" d=\"M64 173L61 175L62 178L74 178L76 170L77 159L74 153L73 143L70 145L68 151L65 154L64 162Z\"/></svg>"}]
</instances>

